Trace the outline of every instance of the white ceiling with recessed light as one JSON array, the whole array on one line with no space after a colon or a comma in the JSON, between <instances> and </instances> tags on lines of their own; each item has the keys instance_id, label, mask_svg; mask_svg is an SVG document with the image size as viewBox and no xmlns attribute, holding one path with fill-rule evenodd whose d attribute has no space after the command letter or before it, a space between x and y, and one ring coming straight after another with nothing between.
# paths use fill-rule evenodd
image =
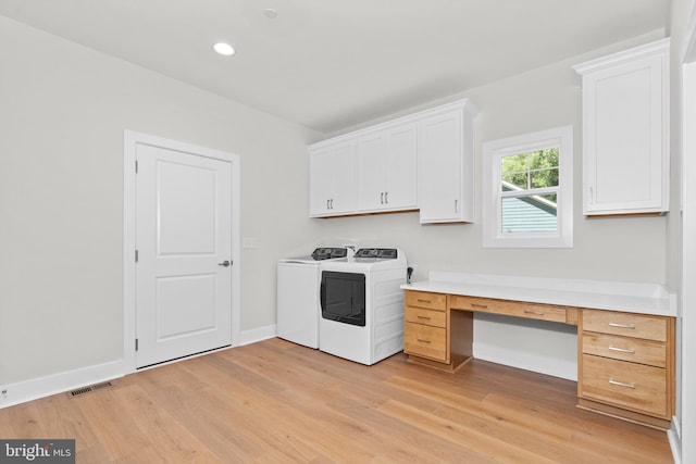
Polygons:
<instances>
[{"instance_id":1,"label":"white ceiling with recessed light","mask_svg":"<svg viewBox=\"0 0 696 464\"><path fill-rule=\"evenodd\" d=\"M0 14L334 133L666 28L669 0L0 0ZM237 54L213 53L220 40Z\"/></svg>"}]
</instances>

